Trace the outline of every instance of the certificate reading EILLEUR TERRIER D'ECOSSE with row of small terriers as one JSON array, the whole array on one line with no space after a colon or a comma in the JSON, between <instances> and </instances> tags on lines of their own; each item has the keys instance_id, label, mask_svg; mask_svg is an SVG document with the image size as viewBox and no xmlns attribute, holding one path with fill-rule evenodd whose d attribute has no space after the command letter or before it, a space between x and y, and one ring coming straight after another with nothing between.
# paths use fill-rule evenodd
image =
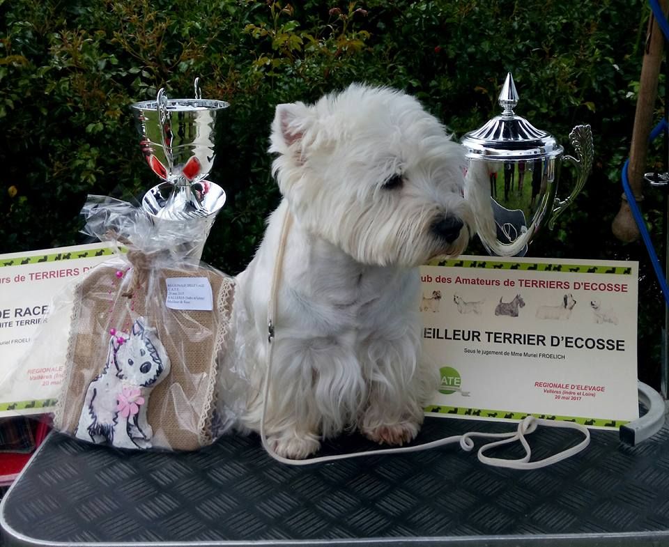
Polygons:
<instances>
[{"instance_id":1,"label":"certificate reading EILLEUR TERRIER D'ECOSSE with row of small terriers","mask_svg":"<svg viewBox=\"0 0 669 547\"><path fill-rule=\"evenodd\" d=\"M462 256L421 268L429 415L638 418L638 263Z\"/></svg>"}]
</instances>

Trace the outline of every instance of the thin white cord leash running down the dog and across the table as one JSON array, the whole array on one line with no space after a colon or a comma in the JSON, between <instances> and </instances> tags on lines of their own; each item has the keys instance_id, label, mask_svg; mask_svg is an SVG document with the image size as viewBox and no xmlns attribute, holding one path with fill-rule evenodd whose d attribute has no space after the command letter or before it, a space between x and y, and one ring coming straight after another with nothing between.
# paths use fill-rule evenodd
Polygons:
<instances>
[{"instance_id":1,"label":"thin white cord leash running down the dog and across the table","mask_svg":"<svg viewBox=\"0 0 669 547\"><path fill-rule=\"evenodd\" d=\"M279 240L279 249L277 251L277 260L274 265L274 272L272 274L272 286L270 288L270 299L267 306L267 325L268 325L268 338L267 338L267 370L265 372L264 385L263 385L263 412L260 419L260 437L263 443L263 447L266 449L268 454L272 456L277 461L281 463L288 463L289 465L312 465L314 463L325 463L330 461L337 461L349 458L359 458L360 456L380 456L382 454L403 454L407 452L419 452L421 450L429 450L431 448L441 447L444 445L450 445L455 442L459 442L461 449L466 452L471 452L474 449L474 439L475 438L484 438L484 439L498 439L494 442L489 442L486 445L483 445L479 448L477 456L479 461L485 463L486 465L493 465L494 467L510 468L510 469L539 469L546 467L547 465L552 465L558 461L567 459L574 454L578 454L581 450L585 449L587 445L590 444L590 431L587 427L582 426L581 424L576 424L575 422L560 422L557 420L549 419L539 419L532 416L528 416L525 419L521 420L518 424L516 431L511 431L507 433L479 433L477 431L472 431L470 433L465 433L464 435L456 435L452 437L446 437L438 440L433 440L431 442L425 442L422 445L414 445L410 447L401 447L401 448L385 448L377 450L367 450L364 452L353 452L351 454L337 454L334 456L318 456L316 458L309 458L305 460L293 460L289 458L284 458L279 456L275 450L270 447L266 431L265 431L265 419L267 413L267 404L268 397L270 393L270 377L272 376L272 362L273 362L273 353L274 353L274 340L275 340L275 318L277 312L277 298L279 294L279 283L281 282L281 271L282 265L284 262L284 250L286 247L286 240L288 239L288 233L291 227L292 215L289 210L286 209L286 215L284 217L284 222L281 230L281 239ZM566 449L558 454L553 454L553 456L548 456L542 460L530 461L532 456L532 449L528 441L525 439L526 435L533 433L537 430L539 426L546 427L559 427L566 429L576 429L583 433L583 440L581 440L578 445ZM486 456L486 452L496 447L502 445L508 445L512 442L519 441L523 448L525 449L525 456L518 459L501 459L493 458L491 456Z\"/></svg>"}]
</instances>

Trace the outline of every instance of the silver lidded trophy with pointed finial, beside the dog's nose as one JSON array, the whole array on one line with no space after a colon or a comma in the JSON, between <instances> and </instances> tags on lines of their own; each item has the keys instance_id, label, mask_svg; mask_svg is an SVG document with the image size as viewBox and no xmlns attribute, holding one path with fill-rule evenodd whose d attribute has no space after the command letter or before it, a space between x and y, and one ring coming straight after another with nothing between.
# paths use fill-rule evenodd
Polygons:
<instances>
[{"instance_id":1,"label":"silver lidded trophy with pointed finial, beside the dog's nose","mask_svg":"<svg viewBox=\"0 0 669 547\"><path fill-rule=\"evenodd\" d=\"M524 256L537 231L546 225L553 229L557 216L583 189L592 169L592 131L590 125L576 125L569 139L577 157L564 155L555 137L514 112L518 92L511 72L499 104L502 114L468 132L461 143L467 148L468 169L488 179L490 198L479 202L489 206L482 217L493 218L494 226L486 229L477 219L484 247L496 256ZM557 183L564 162L576 168L576 179L563 200L557 197Z\"/></svg>"}]
</instances>

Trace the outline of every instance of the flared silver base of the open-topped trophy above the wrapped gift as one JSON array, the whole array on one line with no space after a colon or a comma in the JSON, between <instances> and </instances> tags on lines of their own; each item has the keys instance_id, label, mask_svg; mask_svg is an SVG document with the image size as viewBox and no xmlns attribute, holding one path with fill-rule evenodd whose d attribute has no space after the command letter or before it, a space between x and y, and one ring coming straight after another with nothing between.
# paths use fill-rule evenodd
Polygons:
<instances>
[{"instance_id":1,"label":"flared silver base of the open-topped trophy above the wrapped gift","mask_svg":"<svg viewBox=\"0 0 669 547\"><path fill-rule=\"evenodd\" d=\"M187 261L197 262L225 199L222 187L208 180L189 186L163 182L144 194L141 206L151 216L159 233L160 226L169 233L182 227L183 231L192 233L192 242L180 245L178 251L183 252Z\"/></svg>"}]
</instances>

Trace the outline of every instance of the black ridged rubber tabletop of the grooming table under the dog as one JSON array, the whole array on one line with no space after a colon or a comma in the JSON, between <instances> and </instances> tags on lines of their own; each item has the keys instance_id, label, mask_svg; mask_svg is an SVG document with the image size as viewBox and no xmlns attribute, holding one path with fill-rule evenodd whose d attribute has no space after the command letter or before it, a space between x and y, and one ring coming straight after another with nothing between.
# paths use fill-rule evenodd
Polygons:
<instances>
[{"instance_id":1,"label":"black ridged rubber tabletop of the grooming table under the dog","mask_svg":"<svg viewBox=\"0 0 669 547\"><path fill-rule=\"evenodd\" d=\"M419 441L514 427L431 418ZM537 431L533 459L579 440ZM325 452L365 447L351 436ZM529 472L486 467L458 445L295 468L255 436L129 454L52 434L3 500L1 522L8 545L669 545L669 429L637 447L593 431L585 452Z\"/></svg>"}]
</instances>

